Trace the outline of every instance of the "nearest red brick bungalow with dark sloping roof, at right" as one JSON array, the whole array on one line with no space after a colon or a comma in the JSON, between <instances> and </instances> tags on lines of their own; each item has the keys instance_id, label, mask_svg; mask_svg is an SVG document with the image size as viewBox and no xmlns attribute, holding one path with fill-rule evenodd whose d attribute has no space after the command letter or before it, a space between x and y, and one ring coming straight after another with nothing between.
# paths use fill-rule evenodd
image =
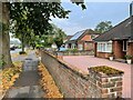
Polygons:
<instances>
[{"instance_id":1,"label":"nearest red brick bungalow with dark sloping roof, at right","mask_svg":"<svg viewBox=\"0 0 133 100\"><path fill-rule=\"evenodd\" d=\"M96 37L94 39L95 57L109 58L112 52L115 59L123 59L125 54L133 56L131 22L131 18L127 18L111 30Z\"/></svg>"}]
</instances>

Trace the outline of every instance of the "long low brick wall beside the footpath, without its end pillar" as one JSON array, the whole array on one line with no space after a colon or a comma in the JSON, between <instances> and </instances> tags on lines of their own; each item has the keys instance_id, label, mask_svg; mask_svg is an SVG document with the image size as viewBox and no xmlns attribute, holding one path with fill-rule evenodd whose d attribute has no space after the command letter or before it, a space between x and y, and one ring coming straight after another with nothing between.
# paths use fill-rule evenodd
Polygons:
<instances>
[{"instance_id":1,"label":"long low brick wall beside the footpath, without its end pillar","mask_svg":"<svg viewBox=\"0 0 133 100\"><path fill-rule=\"evenodd\" d=\"M41 57L64 98L101 98L101 91L96 91L96 86L88 80L88 73L80 73L76 68L71 68L45 52Z\"/></svg>"}]
</instances>

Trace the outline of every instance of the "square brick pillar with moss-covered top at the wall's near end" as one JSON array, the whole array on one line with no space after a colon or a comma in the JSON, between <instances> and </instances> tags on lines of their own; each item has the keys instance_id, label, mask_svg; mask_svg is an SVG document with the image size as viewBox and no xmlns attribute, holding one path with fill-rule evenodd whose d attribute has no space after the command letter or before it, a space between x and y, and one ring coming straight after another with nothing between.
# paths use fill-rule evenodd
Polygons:
<instances>
[{"instance_id":1,"label":"square brick pillar with moss-covered top at the wall's near end","mask_svg":"<svg viewBox=\"0 0 133 100\"><path fill-rule=\"evenodd\" d=\"M122 98L122 74L123 72L119 70L115 70L110 67L108 67L109 70L106 71L111 71L114 72L116 71L117 73L111 73L111 74L106 74L103 72L98 72L95 71L95 68L90 68L89 69L89 73L90 73L90 81L93 82L93 84L95 84L95 90L99 94L99 98ZM98 70L102 69L104 70L104 67L99 67ZM98 94L94 98L98 98Z\"/></svg>"}]
</instances>

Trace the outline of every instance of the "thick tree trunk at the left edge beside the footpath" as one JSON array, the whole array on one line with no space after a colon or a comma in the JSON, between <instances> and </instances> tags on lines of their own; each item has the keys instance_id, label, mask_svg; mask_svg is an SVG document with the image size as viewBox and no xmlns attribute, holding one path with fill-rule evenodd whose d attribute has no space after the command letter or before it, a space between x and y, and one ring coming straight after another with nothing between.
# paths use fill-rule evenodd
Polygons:
<instances>
[{"instance_id":1,"label":"thick tree trunk at the left edge beside the footpath","mask_svg":"<svg viewBox=\"0 0 133 100\"><path fill-rule=\"evenodd\" d=\"M0 22L8 26L9 24L9 10L7 7L7 3L0 2L0 8L2 9L2 16L0 19ZM2 28L3 29L3 28ZM3 67L12 67L12 61L11 61L11 54L10 54L10 37L9 37L9 30L1 30L0 31L0 56L3 57ZM0 59L1 60L1 59Z\"/></svg>"}]
</instances>

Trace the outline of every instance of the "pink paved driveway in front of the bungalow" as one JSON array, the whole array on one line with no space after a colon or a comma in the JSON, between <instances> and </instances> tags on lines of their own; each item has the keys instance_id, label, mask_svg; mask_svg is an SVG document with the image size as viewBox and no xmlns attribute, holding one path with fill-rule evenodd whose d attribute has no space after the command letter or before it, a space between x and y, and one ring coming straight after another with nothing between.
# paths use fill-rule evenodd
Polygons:
<instances>
[{"instance_id":1,"label":"pink paved driveway in front of the bungalow","mask_svg":"<svg viewBox=\"0 0 133 100\"><path fill-rule=\"evenodd\" d=\"M133 87L131 87L131 64L95 58L93 56L64 56L63 60L86 72L88 68L96 66L109 66L124 71L123 98L131 98L131 88Z\"/></svg>"}]
</instances>

